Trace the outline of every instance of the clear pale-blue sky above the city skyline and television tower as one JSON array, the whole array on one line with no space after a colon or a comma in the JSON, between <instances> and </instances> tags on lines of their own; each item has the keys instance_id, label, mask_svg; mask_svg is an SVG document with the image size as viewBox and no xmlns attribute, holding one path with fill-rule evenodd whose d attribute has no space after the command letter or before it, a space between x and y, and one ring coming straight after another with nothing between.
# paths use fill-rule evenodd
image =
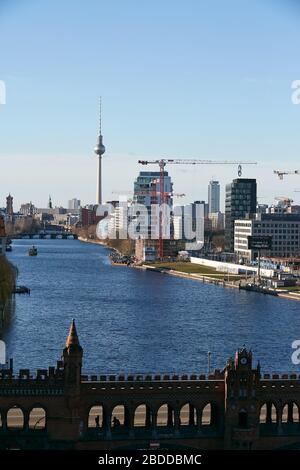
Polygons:
<instances>
[{"instance_id":1,"label":"clear pale-blue sky above the city skyline and television tower","mask_svg":"<svg viewBox=\"0 0 300 470\"><path fill-rule=\"evenodd\" d=\"M131 190L139 157L251 159L260 202L300 177L300 5L292 0L0 0L0 205L95 199L98 96L104 196ZM154 167L149 167L149 170ZM235 168L169 167L186 200Z\"/></svg>"}]
</instances>

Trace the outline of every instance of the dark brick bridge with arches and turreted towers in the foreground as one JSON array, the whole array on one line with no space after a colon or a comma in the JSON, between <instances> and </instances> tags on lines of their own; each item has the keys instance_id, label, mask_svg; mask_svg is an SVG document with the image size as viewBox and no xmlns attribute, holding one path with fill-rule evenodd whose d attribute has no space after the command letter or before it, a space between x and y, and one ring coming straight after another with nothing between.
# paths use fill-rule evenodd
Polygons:
<instances>
[{"instance_id":1,"label":"dark brick bridge with arches and turreted towers in the foreground","mask_svg":"<svg viewBox=\"0 0 300 470\"><path fill-rule=\"evenodd\" d=\"M205 375L81 374L74 321L56 367L0 371L0 449L300 449L300 376L241 349Z\"/></svg>"}]
</instances>

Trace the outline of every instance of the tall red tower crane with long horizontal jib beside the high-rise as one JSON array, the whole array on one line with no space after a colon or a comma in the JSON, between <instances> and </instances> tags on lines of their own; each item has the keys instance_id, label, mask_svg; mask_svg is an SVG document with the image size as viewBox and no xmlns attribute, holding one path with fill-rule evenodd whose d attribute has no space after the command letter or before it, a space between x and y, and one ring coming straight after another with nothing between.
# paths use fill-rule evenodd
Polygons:
<instances>
[{"instance_id":1,"label":"tall red tower crane with long horizontal jib beside the high-rise","mask_svg":"<svg viewBox=\"0 0 300 470\"><path fill-rule=\"evenodd\" d=\"M160 206L165 202L164 192L164 176L166 165L238 165L238 176L242 176L242 165L256 165L257 162L252 161L217 161L217 160L194 160L194 159L182 159L182 158L161 158L159 160L139 160L138 163L141 165L158 165L160 176L159 176L159 191L160 191ZM163 214L162 210L159 212L159 244L158 244L158 257L163 258L164 256L164 245L163 245Z\"/></svg>"}]
</instances>

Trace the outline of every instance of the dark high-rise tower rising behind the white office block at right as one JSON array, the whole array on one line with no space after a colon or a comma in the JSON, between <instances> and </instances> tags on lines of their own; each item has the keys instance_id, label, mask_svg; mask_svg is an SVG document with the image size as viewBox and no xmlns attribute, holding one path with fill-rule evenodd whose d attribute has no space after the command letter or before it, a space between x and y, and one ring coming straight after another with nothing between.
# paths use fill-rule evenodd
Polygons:
<instances>
[{"instance_id":1,"label":"dark high-rise tower rising behind the white office block at right","mask_svg":"<svg viewBox=\"0 0 300 470\"><path fill-rule=\"evenodd\" d=\"M225 250L234 251L234 221L256 213L256 179L238 178L226 185Z\"/></svg>"}]
</instances>

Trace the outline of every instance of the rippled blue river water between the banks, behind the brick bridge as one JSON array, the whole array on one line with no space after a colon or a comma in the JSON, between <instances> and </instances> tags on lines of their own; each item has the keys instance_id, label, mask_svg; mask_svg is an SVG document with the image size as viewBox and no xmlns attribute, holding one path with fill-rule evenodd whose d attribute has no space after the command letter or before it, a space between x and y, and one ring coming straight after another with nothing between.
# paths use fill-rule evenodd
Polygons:
<instances>
[{"instance_id":1,"label":"rippled blue river water between the banks, behind the brick bridge","mask_svg":"<svg viewBox=\"0 0 300 470\"><path fill-rule=\"evenodd\" d=\"M15 240L15 313L2 339L14 368L47 368L60 358L72 318L86 373L207 372L243 345L264 372L298 371L300 303L199 281L111 266L108 250L77 240Z\"/></svg>"}]
</instances>

